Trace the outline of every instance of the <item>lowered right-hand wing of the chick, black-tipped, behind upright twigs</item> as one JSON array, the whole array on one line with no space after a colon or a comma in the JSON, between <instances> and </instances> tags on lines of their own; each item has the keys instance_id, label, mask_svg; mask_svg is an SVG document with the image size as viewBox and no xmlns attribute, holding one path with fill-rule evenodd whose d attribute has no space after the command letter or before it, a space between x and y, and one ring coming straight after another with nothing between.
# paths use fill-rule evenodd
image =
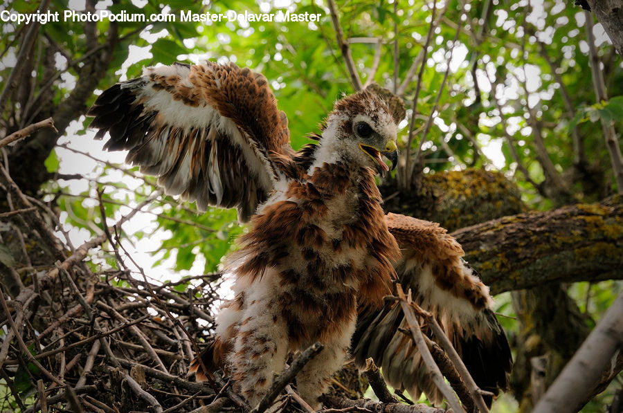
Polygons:
<instances>
[{"instance_id":1,"label":"lowered right-hand wing of the chick, black-tipped, behind upright twigs","mask_svg":"<svg viewBox=\"0 0 623 413\"><path fill-rule=\"evenodd\" d=\"M413 300L436 315L481 389L494 394L507 389L509 345L491 311L489 288L462 259L461 246L437 223L398 214L387 214L386 222L401 249L396 269L404 291L410 288ZM441 403L419 352L399 327L407 325L396 302L380 311L362 309L352 343L356 361L364 365L372 357L392 387L415 398L424 392L429 401ZM423 331L433 338L426 326Z\"/></svg>"}]
</instances>

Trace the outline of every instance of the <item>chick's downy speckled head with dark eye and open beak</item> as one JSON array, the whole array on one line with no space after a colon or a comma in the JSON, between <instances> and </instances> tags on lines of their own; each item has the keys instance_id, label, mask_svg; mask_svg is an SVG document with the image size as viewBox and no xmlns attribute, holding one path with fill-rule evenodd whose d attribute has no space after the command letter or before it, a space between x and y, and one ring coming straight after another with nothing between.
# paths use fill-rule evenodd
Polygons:
<instances>
[{"instance_id":1,"label":"chick's downy speckled head with dark eye and open beak","mask_svg":"<svg viewBox=\"0 0 623 413\"><path fill-rule=\"evenodd\" d=\"M397 125L386 102L370 91L360 91L336 102L327 117L320 145L352 165L371 167L381 175L398 160Z\"/></svg>"}]
</instances>

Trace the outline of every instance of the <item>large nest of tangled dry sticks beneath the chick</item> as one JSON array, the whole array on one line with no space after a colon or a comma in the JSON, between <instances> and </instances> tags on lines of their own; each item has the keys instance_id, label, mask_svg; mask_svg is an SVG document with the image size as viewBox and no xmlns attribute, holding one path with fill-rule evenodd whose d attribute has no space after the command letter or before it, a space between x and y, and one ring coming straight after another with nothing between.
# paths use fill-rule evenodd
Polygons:
<instances>
[{"instance_id":1,"label":"large nest of tangled dry sticks beneath the chick","mask_svg":"<svg viewBox=\"0 0 623 413\"><path fill-rule=\"evenodd\" d=\"M188 374L210 340L220 274L161 284L142 270L136 279L127 269L124 259L132 257L120 251L118 229L151 199L73 248L60 238L62 226L50 206L22 193L1 165L0 197L8 207L0 212L0 412L251 410L228 378L217 373L197 383ZM119 269L94 272L87 261L107 241ZM253 411L313 411L289 383L320 349L314 345L291 360ZM380 378L378 371L370 374ZM333 407L327 411L444 412L395 400L352 400L367 387L355 369L338 380L325 398ZM352 383L359 389L349 389Z\"/></svg>"}]
</instances>

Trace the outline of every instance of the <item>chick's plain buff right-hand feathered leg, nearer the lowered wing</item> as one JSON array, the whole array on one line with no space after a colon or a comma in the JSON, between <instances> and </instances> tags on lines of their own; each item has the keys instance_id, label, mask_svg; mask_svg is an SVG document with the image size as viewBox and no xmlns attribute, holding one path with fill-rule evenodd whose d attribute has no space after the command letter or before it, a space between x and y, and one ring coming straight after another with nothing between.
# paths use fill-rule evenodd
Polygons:
<instances>
[{"instance_id":1,"label":"chick's plain buff right-hand feathered leg, nearer the lowered wing","mask_svg":"<svg viewBox=\"0 0 623 413\"><path fill-rule=\"evenodd\" d=\"M350 338L354 333L355 316L353 315L347 325L340 327L329 340L323 342L325 346L323 351L312 358L296 376L298 393L316 410L322 407L319 398L329 387L331 377L342 367L347 358Z\"/></svg>"}]
</instances>

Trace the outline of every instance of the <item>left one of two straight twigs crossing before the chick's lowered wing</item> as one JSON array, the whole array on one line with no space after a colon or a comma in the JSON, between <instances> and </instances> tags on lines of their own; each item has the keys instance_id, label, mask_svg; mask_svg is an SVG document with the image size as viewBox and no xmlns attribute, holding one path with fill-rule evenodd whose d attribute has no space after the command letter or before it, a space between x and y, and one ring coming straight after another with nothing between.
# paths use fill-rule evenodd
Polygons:
<instances>
[{"instance_id":1,"label":"left one of two straight twigs crossing before the chick's lowered wing","mask_svg":"<svg viewBox=\"0 0 623 413\"><path fill-rule=\"evenodd\" d=\"M435 364L435 360L433 360L433 356L431 356L431 351L428 350L428 346L426 345L426 340L424 340L424 334L422 334L422 330L419 329L419 322L417 318L415 318L415 313L413 312L413 307L411 306L410 300L404 295L404 291L402 291L402 287L400 284L396 284L397 295L400 299L400 306L402 307L402 312L404 313L404 318L407 320L409 324L409 331L411 332L411 336L413 337L413 341L417 346L417 350L419 351L420 356L422 356L422 360L424 360L424 364L428 367L428 372L431 376L431 380L440 390L440 392L448 401L452 410L455 413L463 412L463 408L461 407L458 398L444 381L444 376L442 375L439 367Z\"/></svg>"}]
</instances>

